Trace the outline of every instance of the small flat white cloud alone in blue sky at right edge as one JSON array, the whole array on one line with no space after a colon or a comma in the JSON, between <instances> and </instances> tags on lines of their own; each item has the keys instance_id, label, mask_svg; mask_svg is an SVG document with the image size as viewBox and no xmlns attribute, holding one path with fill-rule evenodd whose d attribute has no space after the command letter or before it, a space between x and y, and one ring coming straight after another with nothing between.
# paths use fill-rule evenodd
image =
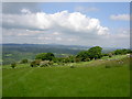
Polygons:
<instances>
[{"instance_id":1,"label":"small flat white cloud alone in blue sky at right edge","mask_svg":"<svg viewBox=\"0 0 132 99\"><path fill-rule=\"evenodd\" d=\"M120 21L130 21L130 15L129 14L112 14L110 15L111 20L120 20Z\"/></svg>"}]
</instances>

